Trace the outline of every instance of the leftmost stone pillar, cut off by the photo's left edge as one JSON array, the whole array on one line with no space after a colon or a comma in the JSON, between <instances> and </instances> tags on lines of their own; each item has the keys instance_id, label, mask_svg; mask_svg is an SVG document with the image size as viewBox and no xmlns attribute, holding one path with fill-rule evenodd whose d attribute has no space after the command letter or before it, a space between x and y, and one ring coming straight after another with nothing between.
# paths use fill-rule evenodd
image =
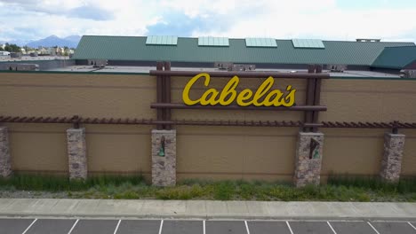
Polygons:
<instances>
[{"instance_id":1,"label":"leftmost stone pillar, cut off by the photo's left edge","mask_svg":"<svg viewBox=\"0 0 416 234\"><path fill-rule=\"evenodd\" d=\"M9 152L9 132L7 127L0 126L0 176L12 174L12 162Z\"/></svg>"}]
</instances>

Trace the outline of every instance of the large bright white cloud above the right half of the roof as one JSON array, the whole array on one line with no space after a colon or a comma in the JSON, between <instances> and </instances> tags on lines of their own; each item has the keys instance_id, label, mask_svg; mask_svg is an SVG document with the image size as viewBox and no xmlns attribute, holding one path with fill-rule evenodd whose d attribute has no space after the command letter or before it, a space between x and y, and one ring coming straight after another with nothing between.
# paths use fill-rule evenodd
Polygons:
<instances>
[{"instance_id":1,"label":"large bright white cloud above the right half of the roof","mask_svg":"<svg viewBox=\"0 0 416 234\"><path fill-rule=\"evenodd\" d=\"M196 31L193 35L336 40L360 37L416 39L416 21L412 20L416 8L345 11L337 8L332 1L308 2L313 4L304 6L299 1L289 4L270 1L263 13L245 20L235 20L227 32L212 27L211 31Z\"/></svg>"}]
</instances>

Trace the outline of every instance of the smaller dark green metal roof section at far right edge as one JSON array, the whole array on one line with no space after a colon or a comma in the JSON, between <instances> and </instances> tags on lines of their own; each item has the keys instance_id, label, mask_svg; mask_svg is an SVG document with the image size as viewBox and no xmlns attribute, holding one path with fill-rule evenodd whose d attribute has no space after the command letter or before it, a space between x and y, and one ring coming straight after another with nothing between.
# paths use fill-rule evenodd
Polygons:
<instances>
[{"instance_id":1,"label":"smaller dark green metal roof section at far right edge","mask_svg":"<svg viewBox=\"0 0 416 234\"><path fill-rule=\"evenodd\" d=\"M416 47L389 47L381 51L372 67L401 69L416 60Z\"/></svg>"}]
</instances>

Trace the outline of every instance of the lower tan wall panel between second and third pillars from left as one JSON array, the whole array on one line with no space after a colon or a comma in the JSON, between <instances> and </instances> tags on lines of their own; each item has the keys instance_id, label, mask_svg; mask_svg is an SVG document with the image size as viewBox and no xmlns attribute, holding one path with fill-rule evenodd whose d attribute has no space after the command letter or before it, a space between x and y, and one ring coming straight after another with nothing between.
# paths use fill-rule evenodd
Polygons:
<instances>
[{"instance_id":1,"label":"lower tan wall panel between second and third pillars from left","mask_svg":"<svg viewBox=\"0 0 416 234\"><path fill-rule=\"evenodd\" d=\"M88 170L150 174L150 126L86 125Z\"/></svg>"}]
</instances>

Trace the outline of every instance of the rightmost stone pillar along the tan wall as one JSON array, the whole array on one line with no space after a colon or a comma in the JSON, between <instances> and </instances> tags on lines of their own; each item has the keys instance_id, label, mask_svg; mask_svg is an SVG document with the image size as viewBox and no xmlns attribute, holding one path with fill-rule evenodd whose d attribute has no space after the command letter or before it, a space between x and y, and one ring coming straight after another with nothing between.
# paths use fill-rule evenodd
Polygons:
<instances>
[{"instance_id":1,"label":"rightmost stone pillar along the tan wall","mask_svg":"<svg viewBox=\"0 0 416 234\"><path fill-rule=\"evenodd\" d=\"M398 182L402 170L404 134L386 133L384 135L384 155L381 160L381 178L388 182Z\"/></svg>"}]
</instances>

